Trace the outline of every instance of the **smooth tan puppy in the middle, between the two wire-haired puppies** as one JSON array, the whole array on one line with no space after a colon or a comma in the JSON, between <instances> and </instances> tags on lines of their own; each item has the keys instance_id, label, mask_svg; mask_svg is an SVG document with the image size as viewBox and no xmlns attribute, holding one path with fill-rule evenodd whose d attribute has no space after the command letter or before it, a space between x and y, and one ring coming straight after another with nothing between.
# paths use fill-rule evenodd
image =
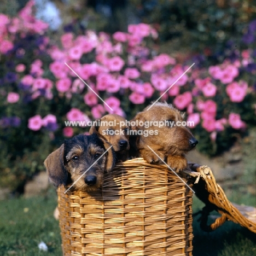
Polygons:
<instances>
[{"instance_id":1,"label":"smooth tan puppy in the middle, between the two wire-haired puppies","mask_svg":"<svg viewBox=\"0 0 256 256\"><path fill-rule=\"evenodd\" d=\"M104 115L100 120L96 120L96 126L91 126L90 134L96 133L113 145L117 159L125 161L128 159L129 126L126 120L117 114Z\"/></svg>"}]
</instances>

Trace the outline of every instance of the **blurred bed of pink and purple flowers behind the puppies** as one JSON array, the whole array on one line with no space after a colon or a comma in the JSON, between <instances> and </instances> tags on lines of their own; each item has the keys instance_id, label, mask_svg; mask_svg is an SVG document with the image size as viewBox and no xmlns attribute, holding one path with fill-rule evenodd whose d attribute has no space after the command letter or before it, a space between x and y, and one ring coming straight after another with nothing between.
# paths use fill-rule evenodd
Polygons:
<instances>
[{"instance_id":1,"label":"blurred bed of pink and purple flowers behind the puppies","mask_svg":"<svg viewBox=\"0 0 256 256\"><path fill-rule=\"evenodd\" d=\"M15 18L0 14L1 185L22 191L64 138L89 130L65 127L65 121L107 113L129 120L173 83L161 101L187 112L201 152L222 153L255 125L255 21L242 38L242 50L229 42L214 65L206 56L177 63L157 52L158 32L147 24L112 35L69 27L58 45L32 7L28 2Z\"/></svg>"}]
</instances>

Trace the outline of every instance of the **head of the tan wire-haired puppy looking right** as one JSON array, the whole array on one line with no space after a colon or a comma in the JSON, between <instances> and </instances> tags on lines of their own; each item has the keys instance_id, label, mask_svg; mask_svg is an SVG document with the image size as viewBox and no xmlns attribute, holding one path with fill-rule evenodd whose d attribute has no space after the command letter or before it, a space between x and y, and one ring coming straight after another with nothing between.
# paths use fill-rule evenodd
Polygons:
<instances>
[{"instance_id":1,"label":"head of the tan wire-haired puppy looking right","mask_svg":"<svg viewBox=\"0 0 256 256\"><path fill-rule=\"evenodd\" d=\"M179 112L171 104L156 103L150 105L139 112L133 121L142 121L144 124L151 125L149 127L133 126L133 130L153 130L152 136L139 136L137 139L137 147L142 148L146 145L156 145L162 151L173 154L182 155L193 149L198 143L187 126L178 126L184 121L184 114ZM145 123L146 122L146 123ZM158 124L161 124L160 126Z\"/></svg>"}]
</instances>

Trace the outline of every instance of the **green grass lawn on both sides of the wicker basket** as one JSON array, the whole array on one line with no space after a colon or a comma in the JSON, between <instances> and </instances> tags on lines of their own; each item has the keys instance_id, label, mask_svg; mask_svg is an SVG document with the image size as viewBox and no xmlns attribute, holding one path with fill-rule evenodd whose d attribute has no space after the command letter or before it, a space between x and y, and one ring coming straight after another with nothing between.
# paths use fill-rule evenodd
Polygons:
<instances>
[{"instance_id":1,"label":"green grass lawn on both sides of the wicker basket","mask_svg":"<svg viewBox=\"0 0 256 256\"><path fill-rule=\"evenodd\" d=\"M56 194L30 199L10 199L1 202L0 252L1 256L61 256L59 224L53 217ZM201 210L203 203L193 199L193 211ZM256 234L234 223L225 223L216 231L203 232L194 218L193 256L253 256L256 255ZM43 241L48 252L39 251ZM176 256L176 255L173 255Z\"/></svg>"}]
</instances>

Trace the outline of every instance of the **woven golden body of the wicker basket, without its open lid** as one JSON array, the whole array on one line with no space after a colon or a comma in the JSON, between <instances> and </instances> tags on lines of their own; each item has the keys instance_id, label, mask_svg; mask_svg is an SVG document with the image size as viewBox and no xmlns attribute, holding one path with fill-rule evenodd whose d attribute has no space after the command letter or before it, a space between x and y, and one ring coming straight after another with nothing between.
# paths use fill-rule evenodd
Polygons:
<instances>
[{"instance_id":1,"label":"woven golden body of the wicker basket, without its open lid","mask_svg":"<svg viewBox=\"0 0 256 256\"><path fill-rule=\"evenodd\" d=\"M65 190L57 190L63 255L192 255L193 193L167 167L133 159L94 193Z\"/></svg>"}]
</instances>

